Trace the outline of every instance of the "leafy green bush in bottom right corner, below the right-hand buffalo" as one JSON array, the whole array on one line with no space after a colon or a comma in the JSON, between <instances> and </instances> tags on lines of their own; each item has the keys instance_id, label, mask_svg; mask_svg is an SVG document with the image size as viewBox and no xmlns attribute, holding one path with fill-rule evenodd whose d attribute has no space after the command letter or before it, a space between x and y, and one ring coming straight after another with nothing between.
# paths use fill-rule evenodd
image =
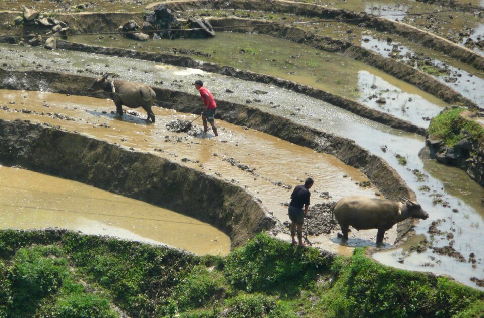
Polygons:
<instances>
[{"instance_id":1,"label":"leafy green bush in bottom right corner, below the right-hand buffalo","mask_svg":"<svg viewBox=\"0 0 484 318\"><path fill-rule=\"evenodd\" d=\"M447 278L380 265L363 249L349 260L337 258L331 270L336 283L319 304L327 316L450 317L482 299Z\"/></svg>"}]
</instances>

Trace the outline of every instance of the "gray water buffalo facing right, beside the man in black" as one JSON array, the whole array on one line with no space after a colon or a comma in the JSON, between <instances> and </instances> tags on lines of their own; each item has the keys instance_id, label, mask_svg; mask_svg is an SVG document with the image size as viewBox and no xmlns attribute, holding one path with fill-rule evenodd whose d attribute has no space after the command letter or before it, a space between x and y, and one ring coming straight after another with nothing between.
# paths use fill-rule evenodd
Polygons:
<instances>
[{"instance_id":1,"label":"gray water buffalo facing right, beside the man in black","mask_svg":"<svg viewBox=\"0 0 484 318\"><path fill-rule=\"evenodd\" d=\"M429 215L418 203L402 198L404 203L385 199L361 196L345 197L336 203L333 215L343 232L343 239L348 239L348 227L357 230L378 229L377 244L383 242L386 230L409 217L427 219Z\"/></svg>"}]
</instances>

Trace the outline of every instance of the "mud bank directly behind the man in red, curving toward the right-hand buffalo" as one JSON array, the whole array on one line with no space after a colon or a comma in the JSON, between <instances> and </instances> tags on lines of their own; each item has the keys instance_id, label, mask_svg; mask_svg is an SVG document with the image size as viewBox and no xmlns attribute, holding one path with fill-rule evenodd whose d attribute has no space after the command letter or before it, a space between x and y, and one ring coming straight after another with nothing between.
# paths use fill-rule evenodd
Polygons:
<instances>
[{"instance_id":1,"label":"mud bank directly behind the man in red, curving toward the right-hand buffalo","mask_svg":"<svg viewBox=\"0 0 484 318\"><path fill-rule=\"evenodd\" d=\"M86 95L84 87L88 87L93 78L78 75L70 75L54 72L39 71L5 71L0 69L1 87L5 89L39 90L40 87L48 88L51 92ZM166 108L173 108L183 112L193 112L189 105L199 101L198 95L183 92L160 89L153 87L157 100L169 102L163 104ZM89 96L107 97L107 93L93 93ZM263 112L247 105L235 104L217 100L217 104L223 112L216 113L216 118L241 126L273 135L285 141L311 148L315 151L334 155L345 164L353 166L364 172L381 193L389 199L398 199L405 196L415 200L415 194L407 187L398 173L383 159L372 155L370 152L358 146L354 141L347 138L334 136L293 121L281 116ZM179 208L168 209L180 211ZM183 212L183 211L180 211ZM209 221L206 221L210 224ZM216 224L214 224L217 226ZM402 238L413 225L413 220L399 223L397 227L397 241ZM230 234L229 234L230 235Z\"/></svg>"}]
</instances>

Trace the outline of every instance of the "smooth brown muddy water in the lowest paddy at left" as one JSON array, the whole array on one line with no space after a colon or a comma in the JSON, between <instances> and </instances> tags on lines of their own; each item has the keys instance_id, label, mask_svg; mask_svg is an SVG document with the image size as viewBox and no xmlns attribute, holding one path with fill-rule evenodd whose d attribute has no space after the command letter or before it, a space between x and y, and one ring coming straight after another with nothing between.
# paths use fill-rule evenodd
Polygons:
<instances>
[{"instance_id":1,"label":"smooth brown muddy water in the lowest paddy at left","mask_svg":"<svg viewBox=\"0 0 484 318\"><path fill-rule=\"evenodd\" d=\"M0 166L1 227L59 227L227 255L230 238L209 224L86 184Z\"/></svg>"}]
</instances>

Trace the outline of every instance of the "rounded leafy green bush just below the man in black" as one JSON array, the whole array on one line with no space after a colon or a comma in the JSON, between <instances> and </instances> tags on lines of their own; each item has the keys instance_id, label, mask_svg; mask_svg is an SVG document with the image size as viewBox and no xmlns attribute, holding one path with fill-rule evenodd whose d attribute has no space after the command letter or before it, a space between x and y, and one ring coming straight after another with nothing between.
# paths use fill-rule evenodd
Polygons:
<instances>
[{"instance_id":1,"label":"rounded leafy green bush just below the man in black","mask_svg":"<svg viewBox=\"0 0 484 318\"><path fill-rule=\"evenodd\" d=\"M261 233L227 257L225 275L246 291L296 294L326 263L314 248L295 247Z\"/></svg>"}]
</instances>

